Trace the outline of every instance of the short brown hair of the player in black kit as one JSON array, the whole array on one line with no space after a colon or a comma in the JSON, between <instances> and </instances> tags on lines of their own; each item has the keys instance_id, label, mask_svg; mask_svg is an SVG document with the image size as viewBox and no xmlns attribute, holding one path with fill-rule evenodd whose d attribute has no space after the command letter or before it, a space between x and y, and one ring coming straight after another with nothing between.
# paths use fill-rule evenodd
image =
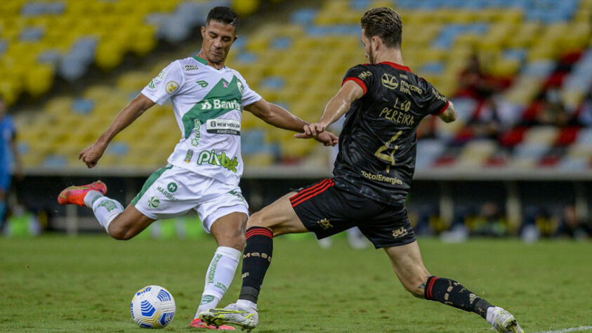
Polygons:
<instances>
[{"instance_id":1,"label":"short brown hair of the player in black kit","mask_svg":"<svg viewBox=\"0 0 592 333\"><path fill-rule=\"evenodd\" d=\"M372 8L362 16L362 29L368 39L378 36L388 47L401 47L403 23L392 8Z\"/></svg>"}]
</instances>

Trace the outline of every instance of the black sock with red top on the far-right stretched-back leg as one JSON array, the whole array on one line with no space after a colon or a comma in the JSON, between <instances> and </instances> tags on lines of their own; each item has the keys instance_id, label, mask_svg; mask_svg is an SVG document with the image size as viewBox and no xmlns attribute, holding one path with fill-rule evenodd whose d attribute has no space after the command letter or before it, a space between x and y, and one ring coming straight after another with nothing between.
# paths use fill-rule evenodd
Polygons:
<instances>
[{"instance_id":1,"label":"black sock with red top on the far-right stretched-back leg","mask_svg":"<svg viewBox=\"0 0 592 333\"><path fill-rule=\"evenodd\" d=\"M492 305L473 294L459 282L447 278L430 276L426 282L426 289L423 296L430 301L439 301L464 311L471 311L485 318L487 309Z\"/></svg>"}]
</instances>

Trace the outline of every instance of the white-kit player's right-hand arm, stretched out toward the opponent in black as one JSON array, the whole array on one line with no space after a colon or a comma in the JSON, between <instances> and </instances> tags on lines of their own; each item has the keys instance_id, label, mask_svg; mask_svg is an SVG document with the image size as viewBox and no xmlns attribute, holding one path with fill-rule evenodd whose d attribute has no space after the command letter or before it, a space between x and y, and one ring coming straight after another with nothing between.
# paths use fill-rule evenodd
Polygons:
<instances>
[{"instance_id":1,"label":"white-kit player's right-hand arm, stretched out toward the opponent in black","mask_svg":"<svg viewBox=\"0 0 592 333\"><path fill-rule=\"evenodd\" d=\"M257 102L246 105L244 110L251 112L256 117L261 118L263 122L276 126L280 129L289 129L295 132L302 132L308 122L291 114L288 110L279 105L269 103L261 98ZM315 139L324 145L336 145L337 136L334 133L327 132L322 136L315 136Z\"/></svg>"}]
</instances>

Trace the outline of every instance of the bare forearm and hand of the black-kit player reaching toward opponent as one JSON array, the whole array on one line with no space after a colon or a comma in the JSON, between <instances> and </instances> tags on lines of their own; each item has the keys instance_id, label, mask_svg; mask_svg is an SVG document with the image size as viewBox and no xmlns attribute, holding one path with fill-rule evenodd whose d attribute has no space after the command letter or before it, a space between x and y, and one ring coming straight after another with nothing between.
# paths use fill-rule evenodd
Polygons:
<instances>
[{"instance_id":1,"label":"bare forearm and hand of the black-kit player reaching toward opponent","mask_svg":"<svg viewBox=\"0 0 592 333\"><path fill-rule=\"evenodd\" d=\"M301 134L296 134L296 138L313 138L324 132L329 125L341 118L344 113L348 112L350 105L354 100L360 99L364 96L364 90L355 81L346 81L341 89L337 92L333 98L329 100L329 103L324 107L323 114L318 122L314 124L307 124L303 128Z\"/></svg>"}]
</instances>

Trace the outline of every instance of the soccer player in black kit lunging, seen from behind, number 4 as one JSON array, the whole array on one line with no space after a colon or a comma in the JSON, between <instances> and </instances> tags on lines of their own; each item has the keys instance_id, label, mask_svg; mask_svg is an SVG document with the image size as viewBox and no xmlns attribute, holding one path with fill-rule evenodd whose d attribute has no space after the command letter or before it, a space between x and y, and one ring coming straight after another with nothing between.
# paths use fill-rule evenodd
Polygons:
<instances>
[{"instance_id":1,"label":"soccer player in black kit lunging, seen from behind, number 4","mask_svg":"<svg viewBox=\"0 0 592 333\"><path fill-rule=\"evenodd\" d=\"M423 266L404 204L415 169L416 127L428 115L453 122L456 112L434 86L403 65L397 12L373 8L361 23L369 64L350 68L319 121L296 134L314 138L346 115L333 177L290 192L249 218L239 299L200 317L211 325L253 329L272 237L310 231L322 238L357 226L385 250L397 278L414 296L478 313L499 332L523 332L508 311Z\"/></svg>"}]
</instances>

